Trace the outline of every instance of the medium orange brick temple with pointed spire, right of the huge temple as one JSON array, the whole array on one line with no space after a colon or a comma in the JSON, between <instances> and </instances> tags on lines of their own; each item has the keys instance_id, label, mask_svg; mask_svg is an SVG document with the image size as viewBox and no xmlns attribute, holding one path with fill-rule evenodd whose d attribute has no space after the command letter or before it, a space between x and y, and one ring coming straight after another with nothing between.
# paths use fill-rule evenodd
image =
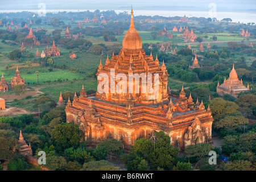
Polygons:
<instances>
[{"instance_id":1,"label":"medium orange brick temple with pointed spire, right of the huge temple","mask_svg":"<svg viewBox=\"0 0 256 182\"><path fill-rule=\"evenodd\" d=\"M217 90L216 92L223 96L224 94L230 94L233 97L237 97L239 93L245 92L250 90L249 87L246 88L246 86L243 85L242 79L238 80L237 72L234 69L234 64L233 64L233 69L229 73L229 78L228 80L224 80L224 83L220 85L218 83L217 85Z\"/></svg>"}]
</instances>

